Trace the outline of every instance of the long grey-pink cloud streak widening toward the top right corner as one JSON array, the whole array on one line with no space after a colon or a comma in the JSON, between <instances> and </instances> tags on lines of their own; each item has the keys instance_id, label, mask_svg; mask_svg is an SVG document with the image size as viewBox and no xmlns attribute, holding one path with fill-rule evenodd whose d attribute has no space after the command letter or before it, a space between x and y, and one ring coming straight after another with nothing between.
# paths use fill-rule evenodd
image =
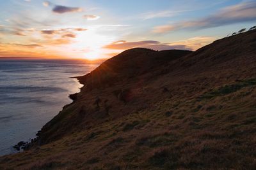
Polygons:
<instances>
[{"instance_id":1,"label":"long grey-pink cloud streak widening toward the top right corner","mask_svg":"<svg viewBox=\"0 0 256 170\"><path fill-rule=\"evenodd\" d=\"M236 24L239 22L249 22L256 20L256 1L239 3L234 6L228 6L218 11L214 15L192 20L188 22L178 22L173 25L161 25L154 27L153 31L157 33L170 32L177 29L205 29L210 27L219 27L222 25Z\"/></svg>"}]
</instances>

